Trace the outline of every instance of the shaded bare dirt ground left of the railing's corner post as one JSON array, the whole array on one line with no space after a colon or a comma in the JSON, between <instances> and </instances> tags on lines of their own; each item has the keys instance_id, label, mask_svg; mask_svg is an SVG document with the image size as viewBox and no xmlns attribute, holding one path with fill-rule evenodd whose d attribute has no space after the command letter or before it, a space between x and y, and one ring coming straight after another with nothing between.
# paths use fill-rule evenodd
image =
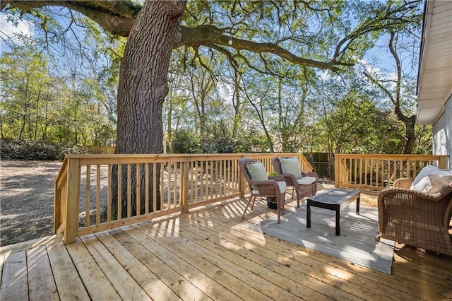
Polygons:
<instances>
[{"instance_id":1,"label":"shaded bare dirt ground left of the railing's corner post","mask_svg":"<svg viewBox=\"0 0 452 301\"><path fill-rule=\"evenodd\" d=\"M0 161L0 246L53 234L59 161Z\"/></svg>"}]
</instances>

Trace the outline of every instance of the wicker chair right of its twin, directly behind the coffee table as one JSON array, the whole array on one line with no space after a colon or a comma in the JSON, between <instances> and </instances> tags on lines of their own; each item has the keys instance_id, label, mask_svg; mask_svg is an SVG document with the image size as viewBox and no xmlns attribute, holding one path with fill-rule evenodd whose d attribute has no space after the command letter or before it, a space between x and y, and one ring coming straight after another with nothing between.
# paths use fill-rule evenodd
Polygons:
<instances>
[{"instance_id":1,"label":"wicker chair right of its twin, directly behind the coffee table","mask_svg":"<svg viewBox=\"0 0 452 301\"><path fill-rule=\"evenodd\" d=\"M281 158L290 158L290 157L281 157ZM285 179L285 183L287 187L293 187L297 194L297 208L299 208L299 201L304 197L314 196L317 193L317 183L319 182L319 177L316 172L302 172L303 177L315 177L316 181L311 184L299 184L295 175L292 174L284 174L283 169L281 167L281 161L278 157L271 159L271 164L273 165L273 169L275 172L278 172L278 175L281 175ZM292 191L292 199L294 197Z\"/></svg>"}]
</instances>

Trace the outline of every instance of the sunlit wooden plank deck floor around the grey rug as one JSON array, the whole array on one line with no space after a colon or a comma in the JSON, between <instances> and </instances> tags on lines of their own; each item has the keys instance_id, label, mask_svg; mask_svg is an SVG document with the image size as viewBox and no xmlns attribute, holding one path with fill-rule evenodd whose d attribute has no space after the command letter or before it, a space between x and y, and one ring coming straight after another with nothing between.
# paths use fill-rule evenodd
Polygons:
<instances>
[{"instance_id":1,"label":"sunlit wooden plank deck floor around the grey rug","mask_svg":"<svg viewBox=\"0 0 452 301\"><path fill-rule=\"evenodd\" d=\"M376 205L371 194L362 206ZM275 213L258 202L242 220L244 206L226 201L67 246L54 237L3 247L0 299L452 299L451 256L398 245L390 276L250 230Z\"/></svg>"}]
</instances>

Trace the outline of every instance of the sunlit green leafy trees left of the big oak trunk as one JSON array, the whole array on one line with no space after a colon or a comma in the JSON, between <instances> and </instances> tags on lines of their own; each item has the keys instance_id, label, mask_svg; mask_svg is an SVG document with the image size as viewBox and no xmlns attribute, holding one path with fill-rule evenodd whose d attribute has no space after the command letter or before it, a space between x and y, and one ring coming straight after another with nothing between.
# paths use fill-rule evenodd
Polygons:
<instances>
[{"instance_id":1,"label":"sunlit green leafy trees left of the big oak trunk","mask_svg":"<svg viewBox=\"0 0 452 301\"><path fill-rule=\"evenodd\" d=\"M1 138L104 145L114 128L90 87L54 75L50 59L34 45L1 57Z\"/></svg>"}]
</instances>

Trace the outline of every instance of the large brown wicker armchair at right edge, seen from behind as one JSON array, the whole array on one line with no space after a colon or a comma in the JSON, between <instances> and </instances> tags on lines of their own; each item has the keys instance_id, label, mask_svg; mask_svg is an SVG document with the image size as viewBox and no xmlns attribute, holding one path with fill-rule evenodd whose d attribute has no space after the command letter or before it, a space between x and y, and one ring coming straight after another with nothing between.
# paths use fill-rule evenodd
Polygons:
<instances>
[{"instance_id":1,"label":"large brown wicker armchair at right edge, seen from behind","mask_svg":"<svg viewBox=\"0 0 452 301\"><path fill-rule=\"evenodd\" d=\"M381 238L452 255L452 183L439 194L410 190L412 179L398 179L379 194Z\"/></svg>"}]
</instances>

